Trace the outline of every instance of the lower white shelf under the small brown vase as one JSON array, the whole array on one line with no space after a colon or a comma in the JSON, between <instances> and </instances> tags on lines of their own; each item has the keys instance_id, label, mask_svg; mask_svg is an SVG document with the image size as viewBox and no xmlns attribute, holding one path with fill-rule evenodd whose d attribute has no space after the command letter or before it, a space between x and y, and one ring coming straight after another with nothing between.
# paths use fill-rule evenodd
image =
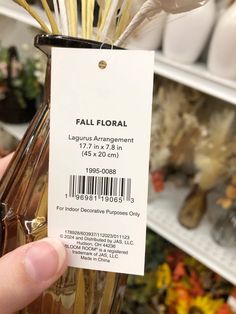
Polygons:
<instances>
[{"instance_id":1,"label":"lower white shelf under the small brown vase","mask_svg":"<svg viewBox=\"0 0 236 314\"><path fill-rule=\"evenodd\" d=\"M148 227L236 285L236 250L220 247L212 240L207 217L195 230L179 224L178 211L187 193L186 189L167 184L148 206Z\"/></svg>"}]
</instances>

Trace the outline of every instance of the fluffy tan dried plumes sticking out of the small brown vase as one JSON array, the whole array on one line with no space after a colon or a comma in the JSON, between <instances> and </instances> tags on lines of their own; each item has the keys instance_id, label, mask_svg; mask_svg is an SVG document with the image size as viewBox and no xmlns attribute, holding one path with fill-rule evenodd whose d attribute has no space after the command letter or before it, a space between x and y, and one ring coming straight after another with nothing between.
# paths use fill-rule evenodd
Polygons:
<instances>
[{"instance_id":1,"label":"fluffy tan dried plumes sticking out of the small brown vase","mask_svg":"<svg viewBox=\"0 0 236 314\"><path fill-rule=\"evenodd\" d=\"M236 171L235 111L216 112L209 121L208 133L195 149L198 170L196 182L203 190L212 189Z\"/></svg>"}]
</instances>

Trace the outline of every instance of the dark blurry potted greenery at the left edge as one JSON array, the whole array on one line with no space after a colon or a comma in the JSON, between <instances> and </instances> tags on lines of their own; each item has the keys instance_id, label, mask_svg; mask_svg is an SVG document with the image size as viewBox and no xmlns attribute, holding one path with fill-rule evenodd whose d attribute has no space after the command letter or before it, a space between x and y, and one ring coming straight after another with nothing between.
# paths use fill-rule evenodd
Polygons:
<instances>
[{"instance_id":1,"label":"dark blurry potted greenery at the left edge","mask_svg":"<svg viewBox=\"0 0 236 314\"><path fill-rule=\"evenodd\" d=\"M42 99L45 67L39 55L20 60L12 46L0 48L0 120L29 122Z\"/></svg>"}]
</instances>

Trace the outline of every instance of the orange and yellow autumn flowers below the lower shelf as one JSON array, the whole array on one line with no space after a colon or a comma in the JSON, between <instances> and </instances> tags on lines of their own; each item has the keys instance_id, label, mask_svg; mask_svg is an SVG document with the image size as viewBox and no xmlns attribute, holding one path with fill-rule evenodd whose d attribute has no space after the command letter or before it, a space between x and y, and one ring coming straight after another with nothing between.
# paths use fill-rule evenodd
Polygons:
<instances>
[{"instance_id":1,"label":"orange and yellow autumn flowers below the lower shelf","mask_svg":"<svg viewBox=\"0 0 236 314\"><path fill-rule=\"evenodd\" d=\"M145 276L129 278L123 314L235 313L230 283L150 230L146 252Z\"/></svg>"}]
</instances>

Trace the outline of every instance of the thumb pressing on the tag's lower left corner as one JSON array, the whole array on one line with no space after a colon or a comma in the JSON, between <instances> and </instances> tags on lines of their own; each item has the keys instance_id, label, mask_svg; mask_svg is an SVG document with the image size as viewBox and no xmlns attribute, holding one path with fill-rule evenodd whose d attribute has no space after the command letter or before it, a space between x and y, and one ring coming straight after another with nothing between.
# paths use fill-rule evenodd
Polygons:
<instances>
[{"instance_id":1,"label":"thumb pressing on the tag's lower left corner","mask_svg":"<svg viewBox=\"0 0 236 314\"><path fill-rule=\"evenodd\" d=\"M45 238L0 259L0 313L12 314L36 299L65 271L67 255L57 239Z\"/></svg>"}]
</instances>

